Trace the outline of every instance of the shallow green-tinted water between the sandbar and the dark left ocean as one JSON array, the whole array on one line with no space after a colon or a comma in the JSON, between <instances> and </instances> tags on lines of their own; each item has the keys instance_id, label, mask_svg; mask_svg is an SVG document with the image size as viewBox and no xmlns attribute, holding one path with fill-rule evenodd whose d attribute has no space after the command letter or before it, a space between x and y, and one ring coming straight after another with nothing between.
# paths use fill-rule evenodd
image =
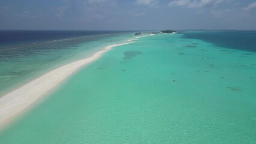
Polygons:
<instances>
[{"instance_id":1,"label":"shallow green-tinted water between the sandbar and the dark left ocean","mask_svg":"<svg viewBox=\"0 0 256 144\"><path fill-rule=\"evenodd\" d=\"M35 32L35 36L41 33ZM52 38L41 41L19 41L19 44L16 44L14 38L10 44L5 44L6 46L2 46L1 41L0 97L49 70L87 58L109 44L122 43L133 36L131 32L123 32L59 40Z\"/></svg>"}]
</instances>

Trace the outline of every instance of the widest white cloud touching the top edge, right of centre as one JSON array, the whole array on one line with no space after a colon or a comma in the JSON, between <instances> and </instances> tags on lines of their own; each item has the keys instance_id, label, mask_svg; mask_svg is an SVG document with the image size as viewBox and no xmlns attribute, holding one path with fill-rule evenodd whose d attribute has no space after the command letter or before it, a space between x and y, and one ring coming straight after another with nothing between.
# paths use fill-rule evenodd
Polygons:
<instances>
[{"instance_id":1,"label":"widest white cloud touching the top edge, right of centre","mask_svg":"<svg viewBox=\"0 0 256 144\"><path fill-rule=\"evenodd\" d=\"M219 4L223 0L174 0L169 2L169 7L188 7L188 8L201 8L201 7L211 7L213 5Z\"/></svg>"}]
</instances>

